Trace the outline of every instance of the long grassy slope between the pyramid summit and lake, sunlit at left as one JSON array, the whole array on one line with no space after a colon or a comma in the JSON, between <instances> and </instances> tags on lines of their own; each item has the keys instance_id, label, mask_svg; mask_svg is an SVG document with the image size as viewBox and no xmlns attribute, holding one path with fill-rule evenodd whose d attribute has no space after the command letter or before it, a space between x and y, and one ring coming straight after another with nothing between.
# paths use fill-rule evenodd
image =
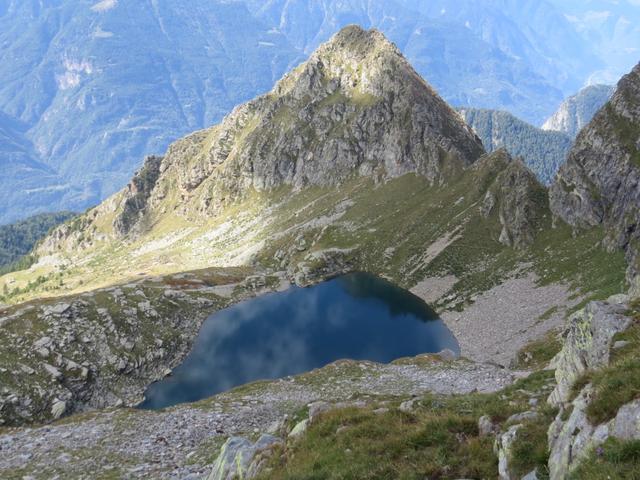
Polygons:
<instances>
[{"instance_id":1,"label":"long grassy slope between the pyramid summit and lake, sunlit at left","mask_svg":"<svg viewBox=\"0 0 640 480\"><path fill-rule=\"evenodd\" d=\"M480 205L503 168L500 161L481 162L433 186L409 174L382 183L354 178L334 189L250 192L216 218L166 213L151 220L150 231L137 241L86 242L53 261L1 277L0 289L7 286L5 303L18 303L140 275L253 262L305 270L319 279L327 272L328 251L329 263L343 270L367 270L405 287L453 274L458 308L522 271L522 265L543 283L572 283L581 295L602 298L623 291L622 255L600 248L603 232L597 229L573 237L564 225L552 228L542 192L534 199L540 217L535 244L514 250L498 242L498 208L485 219Z\"/></svg>"}]
</instances>

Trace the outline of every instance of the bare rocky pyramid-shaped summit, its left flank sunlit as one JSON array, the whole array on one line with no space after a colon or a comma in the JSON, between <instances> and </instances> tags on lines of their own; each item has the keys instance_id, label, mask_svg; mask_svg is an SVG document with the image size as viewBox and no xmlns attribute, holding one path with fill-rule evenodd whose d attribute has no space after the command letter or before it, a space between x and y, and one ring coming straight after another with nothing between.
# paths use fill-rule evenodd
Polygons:
<instances>
[{"instance_id":1,"label":"bare rocky pyramid-shaped summit, its left flank sunlit","mask_svg":"<svg viewBox=\"0 0 640 480\"><path fill-rule=\"evenodd\" d=\"M172 210L215 215L252 188L408 172L435 182L482 153L480 140L384 35L349 26L270 93L147 162L115 225L128 233L144 210L166 209L165 199L182 204Z\"/></svg>"}]
</instances>

